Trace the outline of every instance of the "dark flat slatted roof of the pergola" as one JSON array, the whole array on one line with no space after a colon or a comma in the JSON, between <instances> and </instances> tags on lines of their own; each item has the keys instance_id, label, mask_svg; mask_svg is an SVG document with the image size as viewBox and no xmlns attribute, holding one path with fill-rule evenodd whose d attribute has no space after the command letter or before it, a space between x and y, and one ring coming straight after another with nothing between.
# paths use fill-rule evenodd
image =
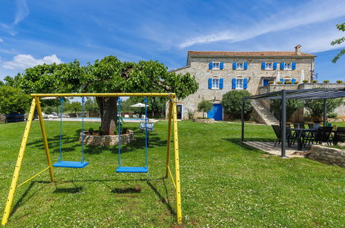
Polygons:
<instances>
[{"instance_id":1,"label":"dark flat slatted roof of the pergola","mask_svg":"<svg viewBox=\"0 0 345 228\"><path fill-rule=\"evenodd\" d=\"M345 97L345 88L310 88L285 90L286 99L328 99ZM245 99L281 99L283 91L263 93L245 97Z\"/></svg>"}]
</instances>

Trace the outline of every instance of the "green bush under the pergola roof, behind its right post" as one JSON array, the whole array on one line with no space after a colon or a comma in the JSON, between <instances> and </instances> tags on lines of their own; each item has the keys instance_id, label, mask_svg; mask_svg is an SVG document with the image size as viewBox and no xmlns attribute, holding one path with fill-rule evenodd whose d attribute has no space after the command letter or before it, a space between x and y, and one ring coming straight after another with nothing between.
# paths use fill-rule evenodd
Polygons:
<instances>
[{"instance_id":1,"label":"green bush under the pergola roof, behind its right post","mask_svg":"<svg viewBox=\"0 0 345 228\"><path fill-rule=\"evenodd\" d=\"M327 99L327 113L333 113L335 108L344 104L342 98ZM323 99L306 99L304 107L310 112L310 116L322 119L324 116L324 100Z\"/></svg>"}]
</instances>

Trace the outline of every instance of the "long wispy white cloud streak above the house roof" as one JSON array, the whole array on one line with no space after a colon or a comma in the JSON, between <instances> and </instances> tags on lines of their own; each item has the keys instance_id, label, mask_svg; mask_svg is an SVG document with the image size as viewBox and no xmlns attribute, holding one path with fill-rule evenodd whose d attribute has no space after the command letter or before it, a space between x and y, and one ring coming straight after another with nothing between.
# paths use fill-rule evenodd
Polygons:
<instances>
[{"instance_id":1,"label":"long wispy white cloud streak above the house roof","mask_svg":"<svg viewBox=\"0 0 345 228\"><path fill-rule=\"evenodd\" d=\"M337 1L336 7L335 2L331 0L322 2L311 1L296 8L283 10L244 29L236 30L234 28L226 28L224 32L213 32L211 34L189 38L178 46L180 48L186 48L194 44L207 44L215 41L230 41L230 43L244 41L268 32L289 30L300 26L307 26L311 23L342 17L345 15L344 8L345 1ZM306 9L308 9L307 14Z\"/></svg>"}]
</instances>

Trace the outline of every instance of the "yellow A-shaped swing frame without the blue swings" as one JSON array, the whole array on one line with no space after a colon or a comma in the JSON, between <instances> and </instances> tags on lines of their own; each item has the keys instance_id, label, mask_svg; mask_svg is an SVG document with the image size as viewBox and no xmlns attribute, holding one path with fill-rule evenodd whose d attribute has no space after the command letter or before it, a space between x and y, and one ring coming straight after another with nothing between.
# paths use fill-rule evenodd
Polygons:
<instances>
[{"instance_id":1,"label":"yellow A-shaped swing frame without the blue swings","mask_svg":"<svg viewBox=\"0 0 345 228\"><path fill-rule=\"evenodd\" d=\"M10 185L10 191L8 192L8 198L6 201L5 210L3 211L3 218L1 220L1 225L6 225L8 222L8 217L10 216L11 206L13 199L15 197L15 191L17 188L21 187L26 182L37 177L39 174L49 169L50 182L54 182L54 171L53 165L50 160L50 152L48 147L48 141L46 137L46 130L44 129L43 115L41 111L41 104L39 102L39 97L169 97L169 114L168 114L168 137L167 137L167 160L165 163L166 172L165 178L170 175L171 180L174 184L176 190L176 216L177 222L180 224L182 222L182 207L181 207L181 190L180 190L180 160L178 156L178 129L177 129L177 109L176 109L176 94L175 93L43 93L43 94L31 94L32 102L30 106L30 111L28 115L28 121L26 122L26 127L24 131L23 138L21 140L21 146L19 149L19 154L17 158L17 164L15 165L15 171L13 173L12 182ZM44 141L44 149L46 150L46 158L48 167L39 171L39 173L33 175L28 180L17 184L19 173L21 169L21 163L24 158L24 152L26 149L26 142L28 141L28 135L31 128L32 118L35 113L35 108L37 108L37 113L39 116L39 125L41 126L42 138ZM175 177L171 173L169 168L170 162L170 148L171 148L171 122L173 122L174 131L174 164L175 164ZM174 180L175 179L175 180Z\"/></svg>"}]
</instances>

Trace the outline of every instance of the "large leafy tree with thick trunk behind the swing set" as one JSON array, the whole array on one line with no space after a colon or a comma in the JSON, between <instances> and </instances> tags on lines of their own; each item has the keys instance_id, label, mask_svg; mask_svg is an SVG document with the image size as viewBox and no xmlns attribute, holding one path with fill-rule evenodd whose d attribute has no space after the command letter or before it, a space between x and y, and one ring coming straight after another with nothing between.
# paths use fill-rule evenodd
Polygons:
<instances>
[{"instance_id":1,"label":"large leafy tree with thick trunk behind the swing set","mask_svg":"<svg viewBox=\"0 0 345 228\"><path fill-rule=\"evenodd\" d=\"M15 81L26 93L176 93L183 99L198 90L198 83L189 73L169 73L158 61L122 62L114 56L87 66L80 66L77 60L35 66ZM116 129L117 99L96 97L104 135L113 135Z\"/></svg>"}]
</instances>

